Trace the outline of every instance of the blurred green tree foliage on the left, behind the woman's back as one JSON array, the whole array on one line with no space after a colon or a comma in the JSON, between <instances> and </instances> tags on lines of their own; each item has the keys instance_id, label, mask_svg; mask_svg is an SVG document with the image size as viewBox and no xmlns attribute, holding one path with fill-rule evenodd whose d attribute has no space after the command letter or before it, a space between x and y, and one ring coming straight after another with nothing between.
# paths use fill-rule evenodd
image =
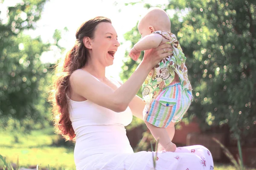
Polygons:
<instances>
[{"instance_id":1,"label":"blurred green tree foliage on the left, behind the woman's back","mask_svg":"<svg viewBox=\"0 0 256 170\"><path fill-rule=\"evenodd\" d=\"M21 1L8 7L7 20L0 20L0 127L5 130L25 132L51 122L47 103L51 65L42 64L40 56L52 45L60 48L61 34L55 31L54 44L23 34L35 28L45 2Z\"/></svg>"}]
</instances>

